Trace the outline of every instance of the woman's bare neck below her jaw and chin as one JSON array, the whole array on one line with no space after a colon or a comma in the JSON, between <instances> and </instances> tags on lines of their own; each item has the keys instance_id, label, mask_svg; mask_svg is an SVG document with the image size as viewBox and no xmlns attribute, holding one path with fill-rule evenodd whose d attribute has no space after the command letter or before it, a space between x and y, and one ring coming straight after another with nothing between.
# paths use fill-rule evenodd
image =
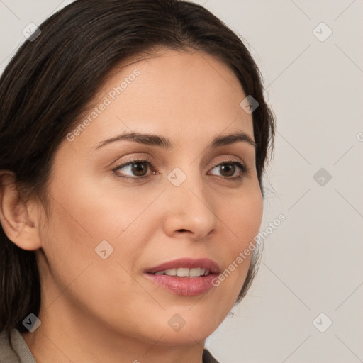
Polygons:
<instances>
[{"instance_id":1,"label":"woman's bare neck below her jaw and chin","mask_svg":"<svg viewBox=\"0 0 363 363\"><path fill-rule=\"evenodd\" d=\"M202 363L204 342L192 338L177 345L165 335L154 340L130 337L91 322L89 316L65 316L55 309L51 314L41 309L38 318L42 323L37 330L21 333L37 363Z\"/></svg>"}]
</instances>

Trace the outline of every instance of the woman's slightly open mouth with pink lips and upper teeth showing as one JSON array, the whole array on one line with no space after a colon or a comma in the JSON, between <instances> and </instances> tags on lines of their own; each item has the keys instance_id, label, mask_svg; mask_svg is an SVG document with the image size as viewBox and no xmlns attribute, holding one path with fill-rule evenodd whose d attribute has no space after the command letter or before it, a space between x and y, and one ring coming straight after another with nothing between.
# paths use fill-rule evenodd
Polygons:
<instances>
[{"instance_id":1,"label":"woman's slightly open mouth with pink lips and upper teeth showing","mask_svg":"<svg viewBox=\"0 0 363 363\"><path fill-rule=\"evenodd\" d=\"M213 288L219 267L211 259L176 259L145 270L145 277L167 291L182 296L205 294Z\"/></svg>"}]
</instances>

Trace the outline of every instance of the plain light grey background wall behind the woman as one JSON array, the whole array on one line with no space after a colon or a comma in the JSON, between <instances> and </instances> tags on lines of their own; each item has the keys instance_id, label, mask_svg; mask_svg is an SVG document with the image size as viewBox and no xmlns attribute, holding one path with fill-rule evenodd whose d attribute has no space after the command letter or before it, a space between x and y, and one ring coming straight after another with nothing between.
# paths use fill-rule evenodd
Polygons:
<instances>
[{"instance_id":1,"label":"plain light grey background wall behind the woman","mask_svg":"<svg viewBox=\"0 0 363 363\"><path fill-rule=\"evenodd\" d=\"M0 0L0 72L23 28L70 2ZM363 1L196 2L242 35L262 71L277 138L261 229L286 216L207 346L222 363L363 362ZM320 168L332 176L323 185ZM325 333L313 325L328 319Z\"/></svg>"}]
</instances>

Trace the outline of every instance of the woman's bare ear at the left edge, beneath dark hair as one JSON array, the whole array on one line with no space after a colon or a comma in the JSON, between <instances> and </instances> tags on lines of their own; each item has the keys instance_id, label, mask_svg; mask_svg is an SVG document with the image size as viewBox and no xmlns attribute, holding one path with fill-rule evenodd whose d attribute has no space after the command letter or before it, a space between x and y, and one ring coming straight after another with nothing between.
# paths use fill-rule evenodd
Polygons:
<instances>
[{"instance_id":1,"label":"woman's bare ear at the left edge, beneath dark hair","mask_svg":"<svg viewBox=\"0 0 363 363\"><path fill-rule=\"evenodd\" d=\"M0 222L9 240L18 247L38 250L42 246L37 208L34 202L23 202L15 181L13 172L0 170Z\"/></svg>"}]
</instances>

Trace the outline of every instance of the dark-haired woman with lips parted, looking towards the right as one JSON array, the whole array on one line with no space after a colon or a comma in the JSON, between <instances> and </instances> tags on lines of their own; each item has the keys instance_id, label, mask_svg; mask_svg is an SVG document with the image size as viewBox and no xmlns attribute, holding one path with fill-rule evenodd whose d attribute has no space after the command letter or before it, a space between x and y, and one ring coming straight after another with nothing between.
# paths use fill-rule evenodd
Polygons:
<instances>
[{"instance_id":1,"label":"dark-haired woman with lips parted, looking towards the right","mask_svg":"<svg viewBox=\"0 0 363 363\"><path fill-rule=\"evenodd\" d=\"M274 139L240 38L191 2L77 0L6 67L0 116L0 361L217 362Z\"/></svg>"}]
</instances>

